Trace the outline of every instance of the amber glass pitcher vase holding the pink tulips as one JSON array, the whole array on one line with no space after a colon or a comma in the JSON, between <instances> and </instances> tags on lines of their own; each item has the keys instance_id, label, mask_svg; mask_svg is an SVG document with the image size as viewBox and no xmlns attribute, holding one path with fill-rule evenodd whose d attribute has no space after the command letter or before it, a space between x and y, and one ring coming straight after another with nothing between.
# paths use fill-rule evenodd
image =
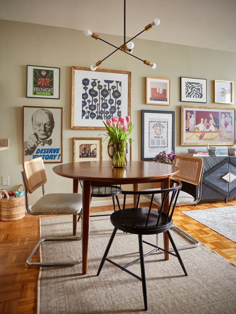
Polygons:
<instances>
[{"instance_id":1,"label":"amber glass pitcher vase holding the pink tulips","mask_svg":"<svg viewBox=\"0 0 236 314\"><path fill-rule=\"evenodd\" d=\"M113 154L109 153L109 148L113 147ZM116 168L125 168L127 162L126 142L113 143L108 146L108 155L112 159L112 165Z\"/></svg>"}]
</instances>

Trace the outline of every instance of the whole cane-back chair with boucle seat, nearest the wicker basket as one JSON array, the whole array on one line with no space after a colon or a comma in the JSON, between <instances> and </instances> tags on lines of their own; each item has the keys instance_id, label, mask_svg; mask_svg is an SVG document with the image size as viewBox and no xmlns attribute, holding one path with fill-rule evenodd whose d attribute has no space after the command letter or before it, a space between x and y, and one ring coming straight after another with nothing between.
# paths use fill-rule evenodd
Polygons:
<instances>
[{"instance_id":1,"label":"whole cane-back chair with boucle seat, nearest the wicker basket","mask_svg":"<svg viewBox=\"0 0 236 314\"><path fill-rule=\"evenodd\" d=\"M79 193L51 193L45 194L44 185L47 182L44 163L41 157L34 158L23 162L23 171L21 171L22 180L25 190L25 207L26 211L31 215L55 215L69 214L80 215L82 208L82 195ZM33 193L39 187L42 187L43 196L29 208L28 193ZM53 237L40 239L35 246L33 252L27 259L28 265L34 266L50 266L50 265L75 265L81 263L79 261L66 262L30 262L34 253L44 241L54 240L82 240L81 236L76 236L76 224L73 223L73 236L71 237Z\"/></svg>"}]
</instances>

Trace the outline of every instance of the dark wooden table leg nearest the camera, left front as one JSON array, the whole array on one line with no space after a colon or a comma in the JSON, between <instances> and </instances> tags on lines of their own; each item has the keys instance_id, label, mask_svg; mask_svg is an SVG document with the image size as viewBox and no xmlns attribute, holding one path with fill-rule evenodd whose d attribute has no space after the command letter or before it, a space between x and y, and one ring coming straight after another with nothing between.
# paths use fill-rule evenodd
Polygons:
<instances>
[{"instance_id":1,"label":"dark wooden table leg nearest the camera, left front","mask_svg":"<svg viewBox=\"0 0 236 314\"><path fill-rule=\"evenodd\" d=\"M82 275L87 274L91 182L83 181Z\"/></svg>"}]
</instances>

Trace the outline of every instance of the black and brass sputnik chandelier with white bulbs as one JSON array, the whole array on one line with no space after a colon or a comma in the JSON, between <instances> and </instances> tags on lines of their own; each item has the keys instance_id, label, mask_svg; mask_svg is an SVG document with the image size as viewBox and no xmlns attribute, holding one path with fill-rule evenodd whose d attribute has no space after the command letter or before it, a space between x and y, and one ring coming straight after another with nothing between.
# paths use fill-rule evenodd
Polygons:
<instances>
[{"instance_id":1,"label":"black and brass sputnik chandelier with white bulbs","mask_svg":"<svg viewBox=\"0 0 236 314\"><path fill-rule=\"evenodd\" d=\"M147 61L147 60L142 60L142 59L140 59L140 58L134 56L133 54L131 55L131 53L132 53L132 51L133 51L133 48L134 48L134 43L133 43L132 40L133 40L134 38L136 38L137 36L139 36L140 34L142 34L145 30L148 31L148 30L150 30L152 27L157 26L157 25L159 25L159 24L160 24L160 19L154 19L154 21L153 21L152 23L150 23L150 24L148 24L147 26L144 27L144 30L142 30L140 33L138 33L136 36L134 36L134 37L131 38L130 40L126 41L126 39L125 39L125 0L124 0L124 43L123 43L123 45L121 45L120 47L117 47L117 46L115 46L115 45L113 45L113 44L110 44L108 41L105 41L105 40L103 40L102 38L99 38L99 36L98 36L97 34L92 33L90 30L85 30L85 31L84 31L84 35L90 36L90 37L92 37L92 38L94 38L94 39L99 39L99 40L101 40L101 41L104 41L106 44L108 44L108 45L113 46L113 47L116 48L116 49L115 49L112 53L110 53L107 57L105 57L105 58L102 59L102 60L99 60L98 62L96 62L96 64L91 65L91 67L90 67L91 70L92 70L92 71L95 71L95 70L97 69L97 67L98 67L100 64L102 64L102 62L103 62L105 59L107 59L108 57L110 57L110 56L111 56L113 53L115 53L117 50L121 50L121 51L123 51L123 52L125 52L125 53L128 53L130 56L132 56L132 57L134 57L134 58L136 58L136 59L141 60L142 62L144 62L144 64L149 65L149 67L151 67L152 69L155 69L155 67L156 67L156 64L155 64L155 63L149 62L149 61Z\"/></svg>"}]
</instances>

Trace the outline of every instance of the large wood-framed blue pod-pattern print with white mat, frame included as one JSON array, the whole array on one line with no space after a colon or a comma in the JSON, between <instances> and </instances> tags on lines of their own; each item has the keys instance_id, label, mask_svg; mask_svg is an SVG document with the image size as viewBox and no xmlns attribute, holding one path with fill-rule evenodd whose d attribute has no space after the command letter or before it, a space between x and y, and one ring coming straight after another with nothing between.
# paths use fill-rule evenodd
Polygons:
<instances>
[{"instance_id":1,"label":"large wood-framed blue pod-pattern print with white mat, frame included","mask_svg":"<svg viewBox=\"0 0 236 314\"><path fill-rule=\"evenodd\" d=\"M72 67L71 128L106 130L102 121L130 116L131 72Z\"/></svg>"}]
</instances>

